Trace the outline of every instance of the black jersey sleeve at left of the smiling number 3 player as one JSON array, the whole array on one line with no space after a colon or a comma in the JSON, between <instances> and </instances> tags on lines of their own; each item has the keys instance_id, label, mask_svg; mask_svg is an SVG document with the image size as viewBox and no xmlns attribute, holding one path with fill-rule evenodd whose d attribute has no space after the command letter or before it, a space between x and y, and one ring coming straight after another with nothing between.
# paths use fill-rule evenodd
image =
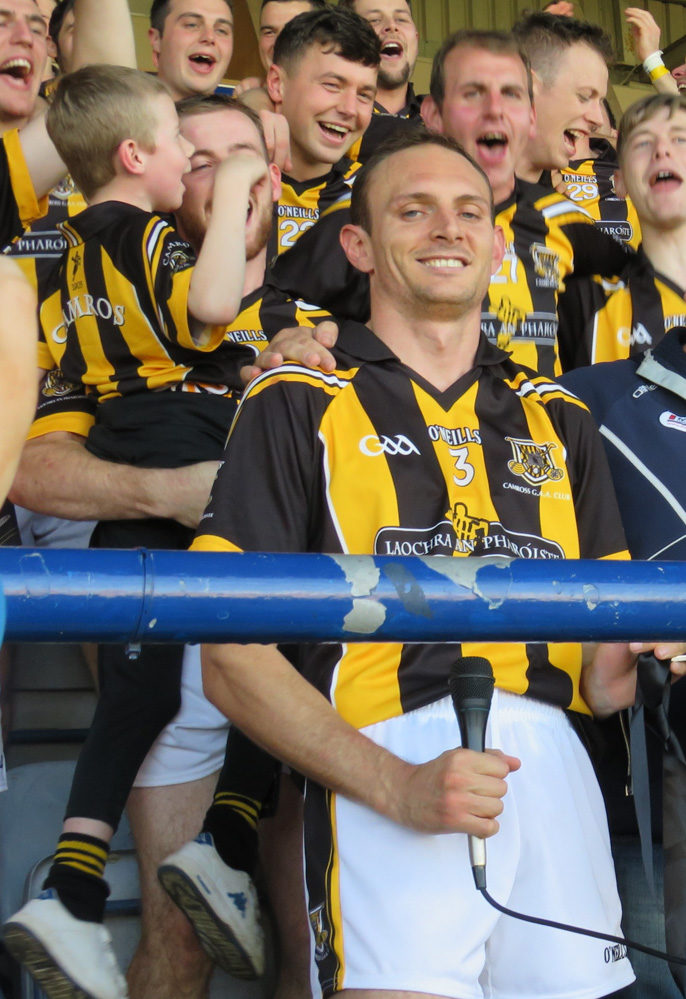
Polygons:
<instances>
[{"instance_id":1,"label":"black jersey sleeve at left of the smiling number 3 player","mask_svg":"<svg viewBox=\"0 0 686 999\"><path fill-rule=\"evenodd\" d=\"M288 373L265 372L252 383L193 548L307 551L319 467L317 427L326 398Z\"/></svg>"}]
</instances>

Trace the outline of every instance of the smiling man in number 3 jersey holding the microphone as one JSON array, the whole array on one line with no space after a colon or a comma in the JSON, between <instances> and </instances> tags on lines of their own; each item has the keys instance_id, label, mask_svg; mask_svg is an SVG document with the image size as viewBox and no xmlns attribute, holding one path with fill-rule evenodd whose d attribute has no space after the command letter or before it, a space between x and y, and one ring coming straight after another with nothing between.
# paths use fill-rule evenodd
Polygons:
<instances>
[{"instance_id":1,"label":"smiling man in number 3 jersey holding the microphone","mask_svg":"<svg viewBox=\"0 0 686 999\"><path fill-rule=\"evenodd\" d=\"M252 384L194 547L625 557L585 408L480 335L503 254L492 211L485 175L450 140L419 135L370 161L342 236L370 276L369 326L342 323L331 373L286 366ZM496 677L489 741L521 773L514 756L454 749L447 677L472 653ZM297 672L275 647L210 646L205 687L311 778L324 995L553 999L631 981L624 955L606 964L602 945L494 915L471 887L464 835L491 836L500 818L489 861L500 901L617 931L599 791L563 709L630 703L626 647L598 646L583 664L573 644L467 642L310 646L293 661ZM550 803L543 822L537 794ZM546 871L536 883L523 874L534 857Z\"/></svg>"}]
</instances>

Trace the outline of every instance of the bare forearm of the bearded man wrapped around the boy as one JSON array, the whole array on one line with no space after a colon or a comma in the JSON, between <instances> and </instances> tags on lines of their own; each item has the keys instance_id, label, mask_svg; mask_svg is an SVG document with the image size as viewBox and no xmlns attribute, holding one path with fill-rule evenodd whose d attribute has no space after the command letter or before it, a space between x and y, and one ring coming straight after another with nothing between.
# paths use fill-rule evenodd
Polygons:
<instances>
[{"instance_id":1,"label":"bare forearm of the bearded man wrapped around the boy","mask_svg":"<svg viewBox=\"0 0 686 999\"><path fill-rule=\"evenodd\" d=\"M103 461L76 434L28 441L10 491L14 503L68 520L169 517L195 527L207 503L215 462L187 468L135 468Z\"/></svg>"}]
</instances>

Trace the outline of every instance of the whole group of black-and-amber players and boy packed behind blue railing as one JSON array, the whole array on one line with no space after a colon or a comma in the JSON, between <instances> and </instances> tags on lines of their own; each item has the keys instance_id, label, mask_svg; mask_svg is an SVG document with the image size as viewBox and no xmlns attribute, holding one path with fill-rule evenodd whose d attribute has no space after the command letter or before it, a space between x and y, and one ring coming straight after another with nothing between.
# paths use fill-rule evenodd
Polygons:
<instances>
[{"instance_id":1,"label":"whole group of black-and-amber players and boy packed behind blue railing","mask_svg":"<svg viewBox=\"0 0 686 999\"><path fill-rule=\"evenodd\" d=\"M34 0L5 0L2 236L40 317L39 402L10 490L25 532L683 557L683 74L629 8L658 93L617 138L608 39L571 8L455 32L420 97L406 0L265 0L265 76L237 101L214 93L227 0L155 0L156 77L134 68L123 0L63 0L47 25ZM618 363L583 367L597 361ZM196 647L132 661L103 646L54 862L6 945L50 999L200 999L214 964L262 974L263 877L278 999L630 988L621 948L608 960L488 909L464 834L494 837L505 904L620 932L577 728L633 702L646 649L460 643L459 628L446 647L215 646L208 701ZM493 666L489 743L510 755L454 749L447 676L472 654ZM304 799L278 760L307 778ZM102 926L125 806L143 899L128 983Z\"/></svg>"}]
</instances>

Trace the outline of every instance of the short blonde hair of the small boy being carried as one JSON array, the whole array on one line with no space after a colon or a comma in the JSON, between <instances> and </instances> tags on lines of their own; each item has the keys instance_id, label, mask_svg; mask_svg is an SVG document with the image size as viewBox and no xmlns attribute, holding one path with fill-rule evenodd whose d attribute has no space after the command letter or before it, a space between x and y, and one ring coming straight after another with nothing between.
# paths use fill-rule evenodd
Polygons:
<instances>
[{"instance_id":1,"label":"short blonde hair of the small boy being carried","mask_svg":"<svg viewBox=\"0 0 686 999\"><path fill-rule=\"evenodd\" d=\"M114 154L125 139L154 150L152 102L161 94L169 91L156 76L125 66L85 66L61 77L46 126L85 198L113 179Z\"/></svg>"}]
</instances>

